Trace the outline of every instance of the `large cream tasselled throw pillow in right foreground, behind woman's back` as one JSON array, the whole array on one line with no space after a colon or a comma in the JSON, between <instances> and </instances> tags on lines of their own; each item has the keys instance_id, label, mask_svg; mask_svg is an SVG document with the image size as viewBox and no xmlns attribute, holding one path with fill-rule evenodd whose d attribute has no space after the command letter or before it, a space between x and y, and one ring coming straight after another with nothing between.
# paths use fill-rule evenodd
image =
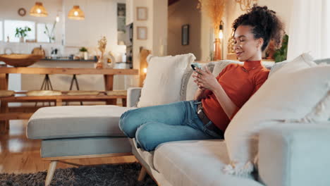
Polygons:
<instances>
[{"instance_id":1,"label":"large cream tasselled throw pillow in right foreground, behind woman's back","mask_svg":"<svg viewBox=\"0 0 330 186\"><path fill-rule=\"evenodd\" d=\"M225 139L231 164L224 171L240 176L251 173L259 130L287 120L310 118L322 101L329 105L329 82L330 66L317 66L309 54L276 70L228 125ZM319 116L330 113L329 106L324 108L319 109Z\"/></svg>"}]
</instances>

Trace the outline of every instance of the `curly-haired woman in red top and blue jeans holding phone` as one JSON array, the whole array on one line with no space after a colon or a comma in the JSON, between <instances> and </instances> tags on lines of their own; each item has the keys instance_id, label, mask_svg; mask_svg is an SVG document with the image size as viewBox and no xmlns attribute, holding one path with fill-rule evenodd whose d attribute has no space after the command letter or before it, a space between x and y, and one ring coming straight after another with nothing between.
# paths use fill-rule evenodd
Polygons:
<instances>
[{"instance_id":1,"label":"curly-haired woman in red top and blue jeans holding phone","mask_svg":"<svg viewBox=\"0 0 330 186\"><path fill-rule=\"evenodd\" d=\"M267 80L262 51L269 41L281 45L283 23L267 6L253 6L233 23L234 49L243 65L230 64L214 77L205 68L193 74L198 89L193 101L149 106L123 113L119 127L138 147L180 140L223 139L231 118Z\"/></svg>"}]
</instances>

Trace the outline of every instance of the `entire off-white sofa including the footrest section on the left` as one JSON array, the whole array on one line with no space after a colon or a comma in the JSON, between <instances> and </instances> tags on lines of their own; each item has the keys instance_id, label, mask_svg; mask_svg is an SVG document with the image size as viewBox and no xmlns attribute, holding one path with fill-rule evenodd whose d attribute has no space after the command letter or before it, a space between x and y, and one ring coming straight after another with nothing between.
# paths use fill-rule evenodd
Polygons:
<instances>
[{"instance_id":1,"label":"entire off-white sofa including the footrest section on the left","mask_svg":"<svg viewBox=\"0 0 330 186\"><path fill-rule=\"evenodd\" d=\"M329 63L329 60L325 60ZM324 62L317 61L317 62ZM215 75L229 63L207 63ZM283 63L271 66L271 73ZM181 100L191 100L197 86L185 73ZM270 73L270 75L271 75ZM122 113L136 109L141 88L128 89L128 107L60 106L39 109L27 124L27 137L42 139L41 156L51 160L46 185L60 159L123 156L133 152L142 166L161 186L188 185L330 185L330 125L292 125L267 128L259 135L259 172L250 178L226 175L229 163L226 142L197 140L160 144L155 151L142 151L118 128ZM83 114L82 114L83 113Z\"/></svg>"}]
</instances>

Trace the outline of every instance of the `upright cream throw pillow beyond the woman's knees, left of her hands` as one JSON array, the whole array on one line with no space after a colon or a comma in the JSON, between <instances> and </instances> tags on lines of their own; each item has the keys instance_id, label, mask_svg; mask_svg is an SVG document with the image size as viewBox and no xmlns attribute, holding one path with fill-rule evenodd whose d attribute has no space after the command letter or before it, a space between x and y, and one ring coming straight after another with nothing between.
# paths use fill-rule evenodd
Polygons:
<instances>
[{"instance_id":1,"label":"upright cream throw pillow beyond the woman's knees, left of her hands","mask_svg":"<svg viewBox=\"0 0 330 186\"><path fill-rule=\"evenodd\" d=\"M183 74L193 61L195 61L194 54L164 57L149 55L147 77L141 90L138 107L181 101Z\"/></svg>"}]
</instances>

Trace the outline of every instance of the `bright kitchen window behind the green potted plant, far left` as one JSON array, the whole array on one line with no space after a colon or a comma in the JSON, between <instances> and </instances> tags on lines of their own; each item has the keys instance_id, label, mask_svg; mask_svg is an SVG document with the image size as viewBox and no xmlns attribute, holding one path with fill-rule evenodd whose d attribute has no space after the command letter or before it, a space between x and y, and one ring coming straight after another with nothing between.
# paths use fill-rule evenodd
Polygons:
<instances>
[{"instance_id":1,"label":"bright kitchen window behind the green potted plant, far left","mask_svg":"<svg viewBox=\"0 0 330 186\"><path fill-rule=\"evenodd\" d=\"M20 38L15 37L17 27L30 27L31 31L27 32L25 39L35 39L35 22L25 20L5 20L4 37L8 36L10 42L19 42Z\"/></svg>"}]
</instances>

